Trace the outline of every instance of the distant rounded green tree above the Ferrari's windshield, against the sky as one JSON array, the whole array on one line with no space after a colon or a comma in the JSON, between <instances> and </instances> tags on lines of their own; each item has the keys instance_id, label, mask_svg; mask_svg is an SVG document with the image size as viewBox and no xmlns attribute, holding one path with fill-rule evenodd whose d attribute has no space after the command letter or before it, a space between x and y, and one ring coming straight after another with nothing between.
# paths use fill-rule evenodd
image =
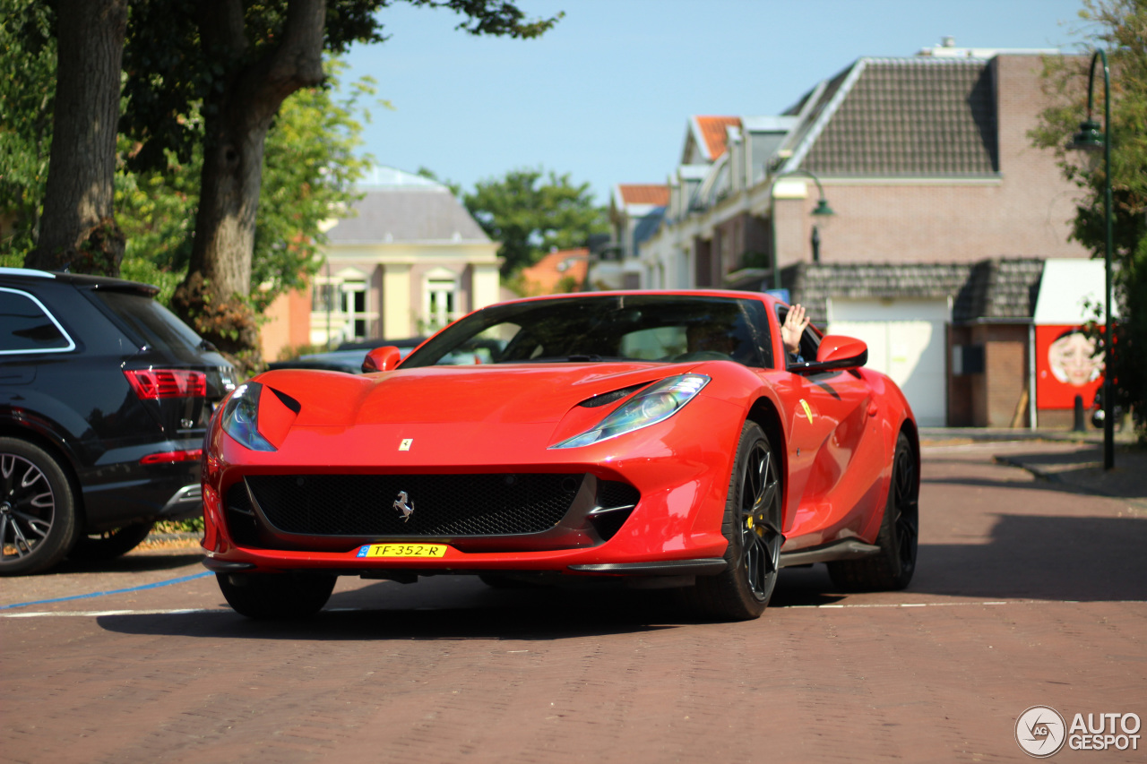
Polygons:
<instances>
[{"instance_id":1,"label":"distant rounded green tree above the Ferrari's windshield, against the sky","mask_svg":"<svg viewBox=\"0 0 1147 764\"><path fill-rule=\"evenodd\" d=\"M552 249L583 247L590 234L609 231L590 184L575 186L569 173L510 170L504 178L478 181L462 202L486 235L501 242L498 254L507 278Z\"/></svg>"}]
</instances>

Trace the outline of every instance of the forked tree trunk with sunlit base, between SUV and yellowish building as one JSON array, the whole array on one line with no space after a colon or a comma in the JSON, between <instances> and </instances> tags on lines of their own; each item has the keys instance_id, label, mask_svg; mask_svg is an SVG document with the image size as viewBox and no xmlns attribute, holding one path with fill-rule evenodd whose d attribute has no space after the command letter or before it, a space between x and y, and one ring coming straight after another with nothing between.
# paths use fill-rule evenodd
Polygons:
<instances>
[{"instance_id":1,"label":"forked tree trunk with sunlit base, between SUV and yellowish building","mask_svg":"<svg viewBox=\"0 0 1147 764\"><path fill-rule=\"evenodd\" d=\"M205 0L198 28L209 59L231 75L204 104L200 208L187 279L172 299L177 311L240 368L259 366L259 330L250 306L255 223L263 150L283 99L322 83L326 0L290 0L278 46L245 65L239 0Z\"/></svg>"}]
</instances>

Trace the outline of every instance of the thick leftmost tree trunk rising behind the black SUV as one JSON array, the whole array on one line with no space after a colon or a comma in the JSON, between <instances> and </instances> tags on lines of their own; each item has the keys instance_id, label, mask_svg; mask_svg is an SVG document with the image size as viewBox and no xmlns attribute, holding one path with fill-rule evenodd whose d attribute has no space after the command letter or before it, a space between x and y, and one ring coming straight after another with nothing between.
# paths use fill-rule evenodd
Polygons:
<instances>
[{"instance_id":1,"label":"thick leftmost tree trunk rising behind the black SUV","mask_svg":"<svg viewBox=\"0 0 1147 764\"><path fill-rule=\"evenodd\" d=\"M29 267L119 275L116 123L127 0L58 0L58 59L44 216Z\"/></svg>"}]
</instances>

